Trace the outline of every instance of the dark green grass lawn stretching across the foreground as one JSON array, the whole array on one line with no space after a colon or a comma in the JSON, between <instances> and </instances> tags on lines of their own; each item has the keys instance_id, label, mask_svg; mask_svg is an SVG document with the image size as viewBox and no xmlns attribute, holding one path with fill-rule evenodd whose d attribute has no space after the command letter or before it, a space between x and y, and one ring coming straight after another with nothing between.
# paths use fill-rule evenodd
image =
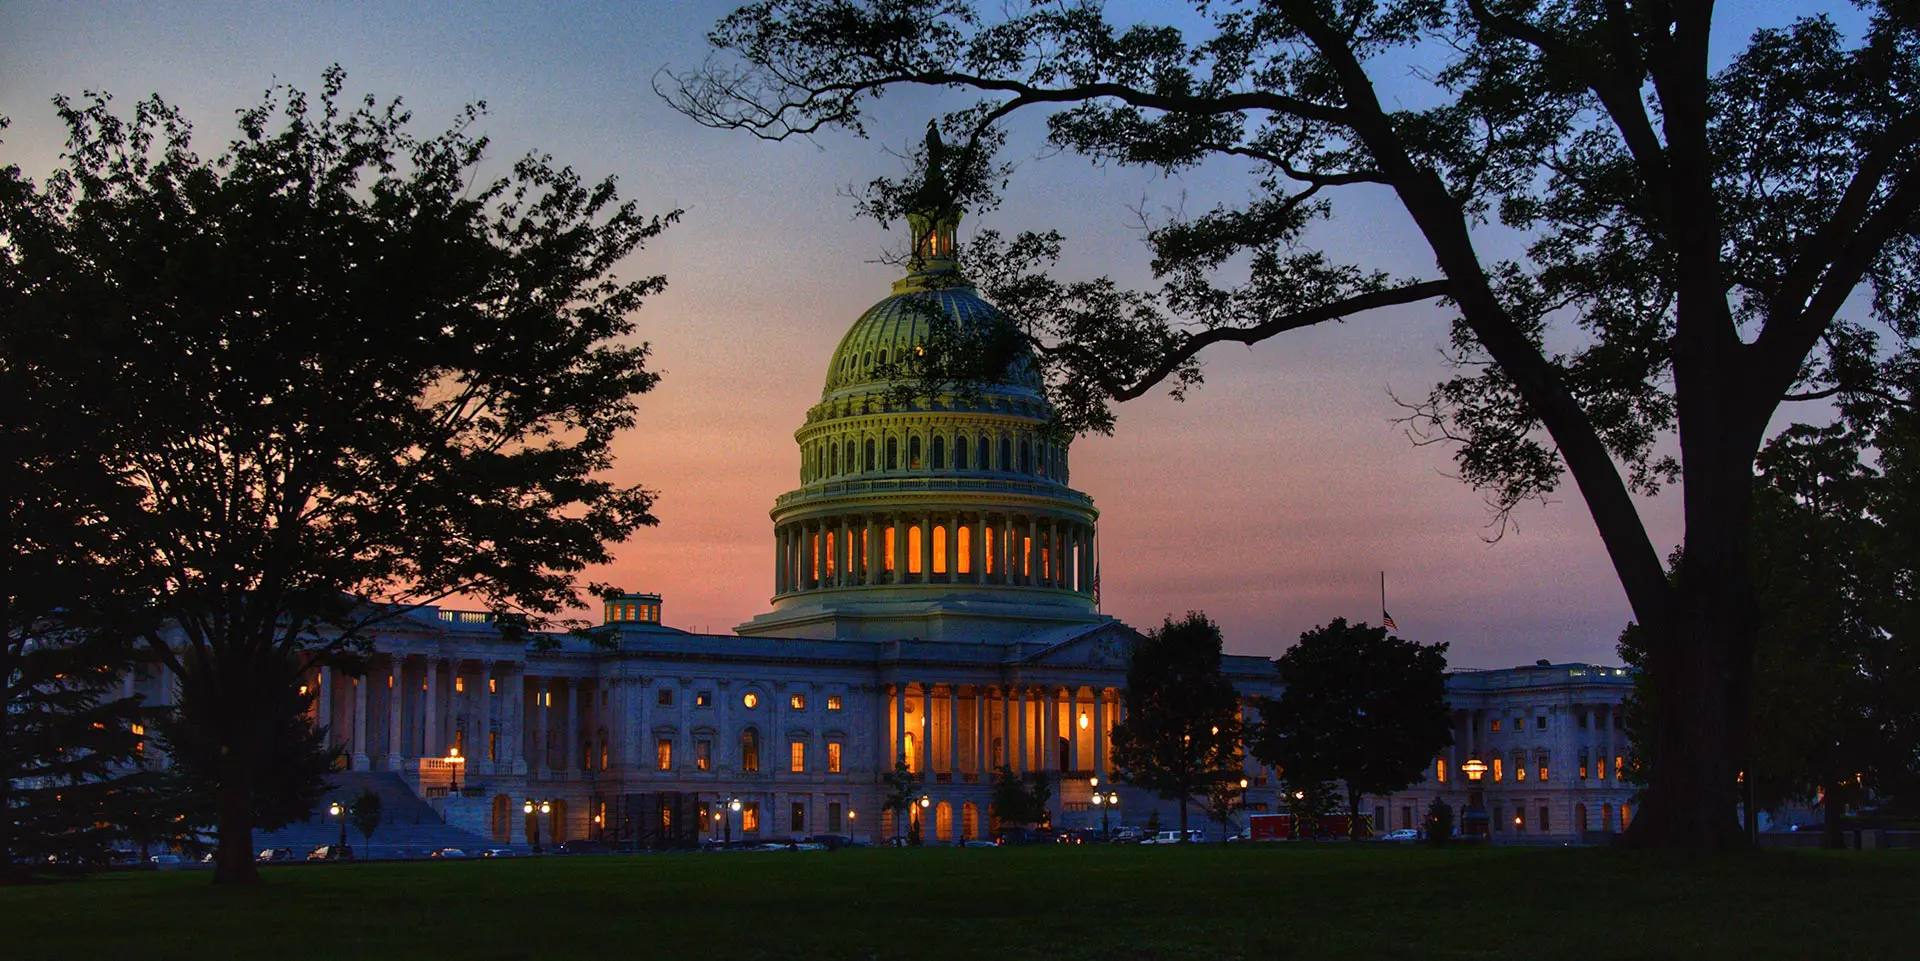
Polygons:
<instances>
[{"instance_id":1,"label":"dark green grass lawn stretching across the foreground","mask_svg":"<svg viewBox=\"0 0 1920 961\"><path fill-rule=\"evenodd\" d=\"M290 865L0 888L0 957L1920 957L1920 854L1236 844Z\"/></svg>"}]
</instances>

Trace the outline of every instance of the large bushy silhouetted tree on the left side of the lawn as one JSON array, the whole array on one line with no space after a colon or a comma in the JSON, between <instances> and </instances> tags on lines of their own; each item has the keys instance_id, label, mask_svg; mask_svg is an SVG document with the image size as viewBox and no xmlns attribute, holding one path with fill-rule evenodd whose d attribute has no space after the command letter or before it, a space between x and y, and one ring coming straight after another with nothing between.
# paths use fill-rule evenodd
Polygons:
<instances>
[{"instance_id":1,"label":"large bushy silhouetted tree on the left side of the lawn","mask_svg":"<svg viewBox=\"0 0 1920 961\"><path fill-rule=\"evenodd\" d=\"M167 738L217 806L215 882L257 882L253 829L317 794L313 664L353 669L369 623L455 595L545 623L653 522L605 476L657 380L628 315L662 280L611 270L672 215L543 155L480 176L484 107L419 138L342 86L273 88L211 161L157 96L131 119L60 98L65 167L10 198L15 307L102 345L56 370L136 493L102 526L180 683Z\"/></svg>"}]
</instances>

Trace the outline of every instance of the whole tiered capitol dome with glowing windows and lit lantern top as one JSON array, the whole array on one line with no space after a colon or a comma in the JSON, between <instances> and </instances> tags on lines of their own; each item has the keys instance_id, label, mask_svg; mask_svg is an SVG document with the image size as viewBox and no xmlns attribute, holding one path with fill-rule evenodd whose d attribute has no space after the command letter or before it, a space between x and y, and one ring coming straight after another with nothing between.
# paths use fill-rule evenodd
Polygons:
<instances>
[{"instance_id":1,"label":"whole tiered capitol dome with glowing windows and lit lantern top","mask_svg":"<svg viewBox=\"0 0 1920 961\"><path fill-rule=\"evenodd\" d=\"M916 395L902 370L1006 343L1004 316L958 270L956 223L912 219L908 274L833 351L793 435L799 487L774 501L774 610L739 633L1006 641L1106 620L1098 510L1068 483L1069 439L1025 347L962 391Z\"/></svg>"}]
</instances>

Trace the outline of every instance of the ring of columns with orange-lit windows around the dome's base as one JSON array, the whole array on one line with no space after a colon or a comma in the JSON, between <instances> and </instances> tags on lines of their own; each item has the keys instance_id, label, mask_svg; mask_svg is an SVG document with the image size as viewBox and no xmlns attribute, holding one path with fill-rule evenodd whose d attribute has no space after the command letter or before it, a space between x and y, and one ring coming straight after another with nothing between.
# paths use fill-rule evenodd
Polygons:
<instances>
[{"instance_id":1,"label":"ring of columns with orange-lit windows around the dome's base","mask_svg":"<svg viewBox=\"0 0 1920 961\"><path fill-rule=\"evenodd\" d=\"M1092 593L1096 529L1058 514L966 508L803 518L774 529L774 593L904 583Z\"/></svg>"}]
</instances>

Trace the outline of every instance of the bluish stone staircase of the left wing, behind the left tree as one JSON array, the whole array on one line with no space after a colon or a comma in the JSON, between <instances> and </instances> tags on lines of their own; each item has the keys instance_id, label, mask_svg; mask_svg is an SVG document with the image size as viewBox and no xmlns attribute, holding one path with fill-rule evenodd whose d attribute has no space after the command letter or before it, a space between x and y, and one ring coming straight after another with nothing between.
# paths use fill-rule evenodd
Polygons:
<instances>
[{"instance_id":1,"label":"bluish stone staircase of the left wing, behind the left tree","mask_svg":"<svg viewBox=\"0 0 1920 961\"><path fill-rule=\"evenodd\" d=\"M392 771L336 771L332 785L305 821L294 821L278 831L255 831L253 848L292 848L294 857L305 857L321 844L338 844L340 821L326 813L326 806L336 800L349 806L361 790L380 796L380 827L374 829L372 840L367 840L348 819L348 844L359 857L426 857L440 848L461 848L468 856L478 856L484 848L501 846L442 821L440 811Z\"/></svg>"}]
</instances>

